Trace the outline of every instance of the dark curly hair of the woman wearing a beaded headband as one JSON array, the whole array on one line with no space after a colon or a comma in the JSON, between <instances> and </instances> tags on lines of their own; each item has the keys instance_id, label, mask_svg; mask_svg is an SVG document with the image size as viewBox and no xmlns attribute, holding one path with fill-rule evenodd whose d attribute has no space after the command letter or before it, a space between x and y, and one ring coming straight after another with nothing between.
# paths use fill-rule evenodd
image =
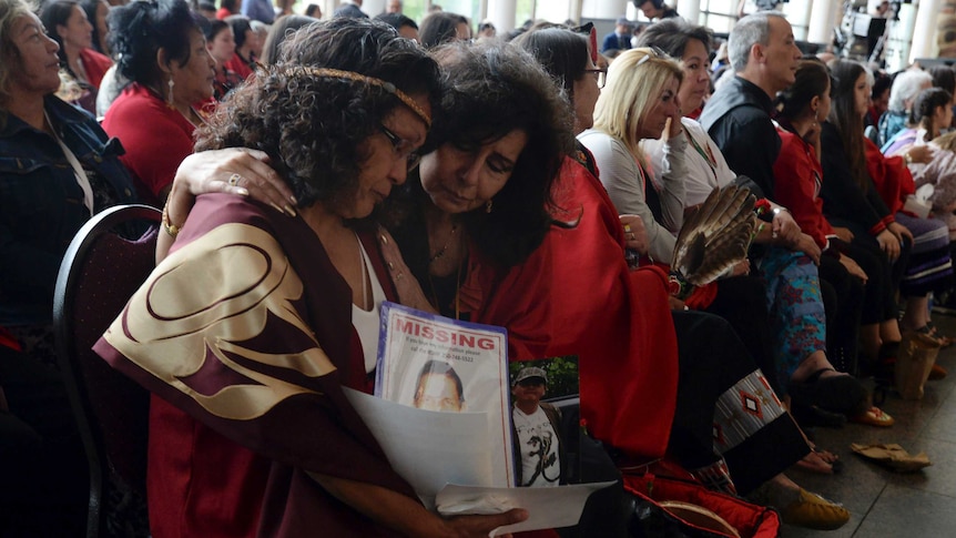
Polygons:
<instances>
[{"instance_id":1,"label":"dark curly hair of the woman wearing a beaded headband","mask_svg":"<svg viewBox=\"0 0 956 538\"><path fill-rule=\"evenodd\" d=\"M299 207L336 203L355 193L367 154L359 148L401 101L377 84L316 74L349 71L408 95L440 94L438 65L388 24L334 19L286 40L285 62L266 65L231 94L197 130L196 151L254 148L267 153Z\"/></svg>"}]
</instances>

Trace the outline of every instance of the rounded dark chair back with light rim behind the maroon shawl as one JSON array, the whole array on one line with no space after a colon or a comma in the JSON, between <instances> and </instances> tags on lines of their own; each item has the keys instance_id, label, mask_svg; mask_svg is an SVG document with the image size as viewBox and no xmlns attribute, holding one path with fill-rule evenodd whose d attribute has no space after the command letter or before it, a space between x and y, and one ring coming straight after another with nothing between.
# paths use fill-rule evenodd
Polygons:
<instances>
[{"instance_id":1,"label":"rounded dark chair back with light rim behind the maroon shawl","mask_svg":"<svg viewBox=\"0 0 956 538\"><path fill-rule=\"evenodd\" d=\"M89 537L111 534L108 498L145 499L150 394L91 347L155 266L160 219L148 205L101 212L73 237L57 278L57 352L90 467ZM143 221L138 240L116 233L142 231Z\"/></svg>"}]
</instances>

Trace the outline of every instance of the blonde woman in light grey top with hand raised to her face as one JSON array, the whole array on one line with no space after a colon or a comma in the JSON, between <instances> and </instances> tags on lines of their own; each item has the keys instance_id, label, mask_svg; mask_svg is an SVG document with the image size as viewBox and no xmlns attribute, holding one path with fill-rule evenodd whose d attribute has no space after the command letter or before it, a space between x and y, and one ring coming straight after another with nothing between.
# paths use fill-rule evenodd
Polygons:
<instances>
[{"instance_id":1,"label":"blonde woman in light grey top with hand raised to her face","mask_svg":"<svg viewBox=\"0 0 956 538\"><path fill-rule=\"evenodd\" d=\"M652 49L623 52L608 69L607 85L594 108L594 126L578 135L593 153L601 183L618 212L643 220L648 255L665 262L675 241L669 230L680 230L683 222L688 140L678 98L682 81L680 65ZM662 170L652 171L640 141L660 139L664 130ZM660 184L649 185L654 177Z\"/></svg>"}]
</instances>

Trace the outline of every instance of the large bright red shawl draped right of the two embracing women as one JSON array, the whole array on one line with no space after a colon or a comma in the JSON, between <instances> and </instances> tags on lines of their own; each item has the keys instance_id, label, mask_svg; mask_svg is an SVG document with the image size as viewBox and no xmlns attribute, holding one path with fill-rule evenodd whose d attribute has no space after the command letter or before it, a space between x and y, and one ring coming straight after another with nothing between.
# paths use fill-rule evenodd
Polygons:
<instances>
[{"instance_id":1,"label":"large bright red shawl draped right of the two embracing women","mask_svg":"<svg viewBox=\"0 0 956 538\"><path fill-rule=\"evenodd\" d=\"M472 321L508 328L509 356L577 355L581 416L591 434L637 457L660 457L677 402L677 336L667 275L629 271L618 212L601 183L565 161L562 221L523 264L504 275L471 252L462 296Z\"/></svg>"}]
</instances>

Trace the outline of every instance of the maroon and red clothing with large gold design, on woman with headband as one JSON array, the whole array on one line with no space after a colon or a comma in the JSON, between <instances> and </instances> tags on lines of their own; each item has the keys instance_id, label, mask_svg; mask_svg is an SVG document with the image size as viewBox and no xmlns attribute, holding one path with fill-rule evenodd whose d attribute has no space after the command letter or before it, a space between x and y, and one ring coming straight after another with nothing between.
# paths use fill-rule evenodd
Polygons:
<instances>
[{"instance_id":1,"label":"maroon and red clothing with large gold design, on woman with headband","mask_svg":"<svg viewBox=\"0 0 956 538\"><path fill-rule=\"evenodd\" d=\"M174 251L94 347L154 393L152 536L395 536L306 474L417 499L342 392L367 389L350 316L352 291L302 219L197 199Z\"/></svg>"}]
</instances>

